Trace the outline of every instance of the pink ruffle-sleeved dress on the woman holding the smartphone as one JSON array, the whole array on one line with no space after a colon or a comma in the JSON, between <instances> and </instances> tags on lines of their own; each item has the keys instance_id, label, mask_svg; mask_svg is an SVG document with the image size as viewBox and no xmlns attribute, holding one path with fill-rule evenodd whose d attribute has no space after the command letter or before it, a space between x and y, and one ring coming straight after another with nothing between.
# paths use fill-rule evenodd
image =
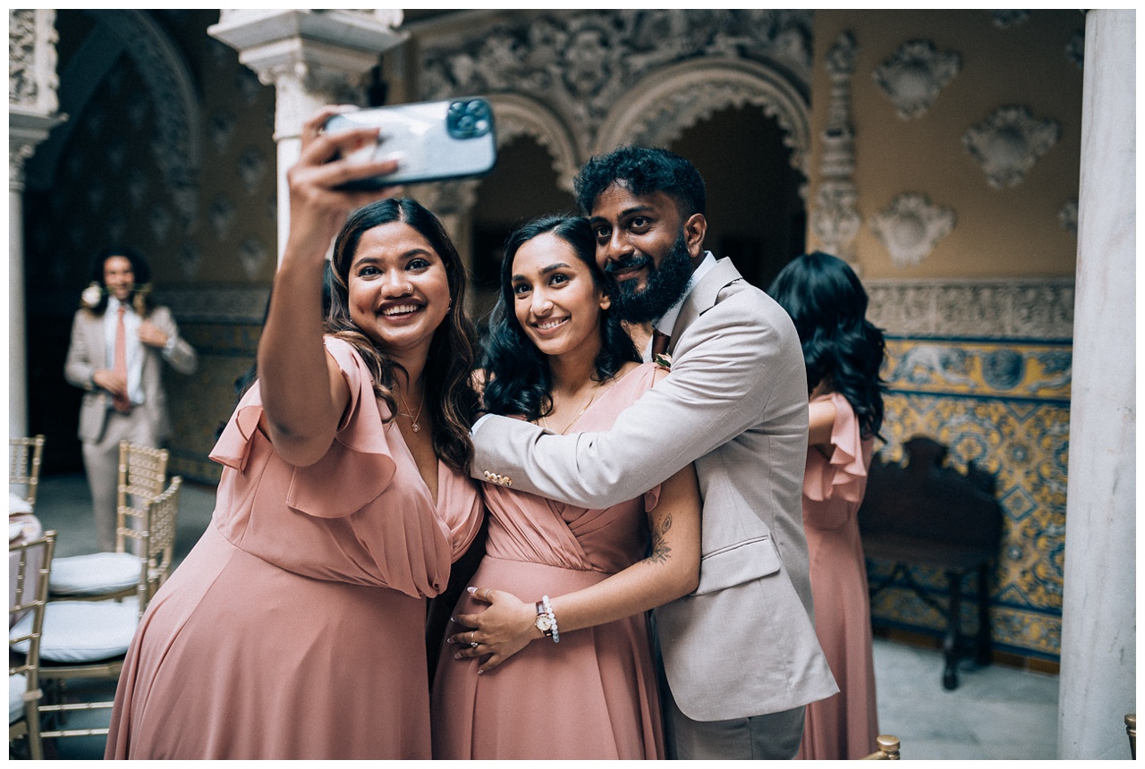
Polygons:
<instances>
[{"instance_id":1,"label":"pink ruffle-sleeved dress on the woman holding the smartphone","mask_svg":"<svg viewBox=\"0 0 1145 769\"><path fill-rule=\"evenodd\" d=\"M255 384L211 457L211 526L157 593L119 680L106 756L428 759L426 597L481 523L481 497L439 462L437 499L382 423L353 348L327 454L283 461Z\"/></svg>"}]
</instances>

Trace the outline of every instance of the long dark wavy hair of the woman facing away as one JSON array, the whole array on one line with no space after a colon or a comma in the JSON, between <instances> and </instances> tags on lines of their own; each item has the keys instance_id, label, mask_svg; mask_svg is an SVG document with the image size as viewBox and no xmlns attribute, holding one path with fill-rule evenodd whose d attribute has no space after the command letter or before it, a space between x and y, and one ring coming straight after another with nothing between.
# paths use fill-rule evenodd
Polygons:
<instances>
[{"instance_id":1,"label":"long dark wavy hair of the woman facing away","mask_svg":"<svg viewBox=\"0 0 1145 769\"><path fill-rule=\"evenodd\" d=\"M867 292L842 259L816 251L797 256L767 290L799 332L807 388L823 380L855 411L864 437L879 436L886 357L883 332L867 319Z\"/></svg>"}]
</instances>

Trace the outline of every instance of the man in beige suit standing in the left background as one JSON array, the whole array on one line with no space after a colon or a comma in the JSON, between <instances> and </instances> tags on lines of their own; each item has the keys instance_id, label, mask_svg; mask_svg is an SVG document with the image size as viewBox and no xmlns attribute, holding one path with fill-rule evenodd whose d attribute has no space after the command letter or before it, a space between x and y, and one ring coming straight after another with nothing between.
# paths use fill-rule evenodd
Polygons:
<instances>
[{"instance_id":1,"label":"man in beige suit standing in the left background","mask_svg":"<svg viewBox=\"0 0 1145 769\"><path fill-rule=\"evenodd\" d=\"M150 269L131 248L96 259L72 322L64 378L85 390L79 411L84 469L101 550L116 549L119 442L157 447L171 434L163 363L190 374L195 348L171 310L150 300Z\"/></svg>"}]
</instances>

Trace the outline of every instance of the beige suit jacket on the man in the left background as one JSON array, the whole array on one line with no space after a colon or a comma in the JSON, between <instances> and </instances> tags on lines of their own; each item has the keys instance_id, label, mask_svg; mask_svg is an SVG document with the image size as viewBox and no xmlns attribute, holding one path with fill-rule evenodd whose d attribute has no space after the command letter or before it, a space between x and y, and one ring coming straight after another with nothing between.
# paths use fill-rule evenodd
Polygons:
<instances>
[{"instance_id":1,"label":"beige suit jacket on the man in the left background","mask_svg":"<svg viewBox=\"0 0 1145 769\"><path fill-rule=\"evenodd\" d=\"M195 372L198 358L195 348L179 335L179 328L171 310L157 307L148 319L159 327L169 339L175 340L174 349L167 355L167 360L175 371L190 374ZM92 374L100 368L106 368L108 344L103 335L103 316L87 310L76 312L72 322L71 343L68 347L68 359L64 363L64 378L84 390L84 401L79 409L79 438L96 442L103 435L108 422L108 407L111 395L92 382ZM161 443L171 435L171 417L167 413L167 394L163 388L161 350L143 346L143 367L140 383L143 388L143 404L132 411L147 420L156 438Z\"/></svg>"}]
</instances>

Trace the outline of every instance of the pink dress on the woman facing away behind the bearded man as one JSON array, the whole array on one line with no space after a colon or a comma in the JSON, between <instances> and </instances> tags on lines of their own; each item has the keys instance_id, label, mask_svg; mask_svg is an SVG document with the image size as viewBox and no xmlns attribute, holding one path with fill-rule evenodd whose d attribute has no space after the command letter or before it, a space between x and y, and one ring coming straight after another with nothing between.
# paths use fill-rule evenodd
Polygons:
<instances>
[{"instance_id":1,"label":"pink dress on the woman facing away behind the bearded man","mask_svg":"<svg viewBox=\"0 0 1145 769\"><path fill-rule=\"evenodd\" d=\"M803 525L811 556L815 634L839 692L807 706L797 759L860 759L875 751L878 712L871 656L867 565L859 539L859 506L867 491L874 439L838 393L819 396L835 404L831 455L807 447Z\"/></svg>"}]
</instances>

